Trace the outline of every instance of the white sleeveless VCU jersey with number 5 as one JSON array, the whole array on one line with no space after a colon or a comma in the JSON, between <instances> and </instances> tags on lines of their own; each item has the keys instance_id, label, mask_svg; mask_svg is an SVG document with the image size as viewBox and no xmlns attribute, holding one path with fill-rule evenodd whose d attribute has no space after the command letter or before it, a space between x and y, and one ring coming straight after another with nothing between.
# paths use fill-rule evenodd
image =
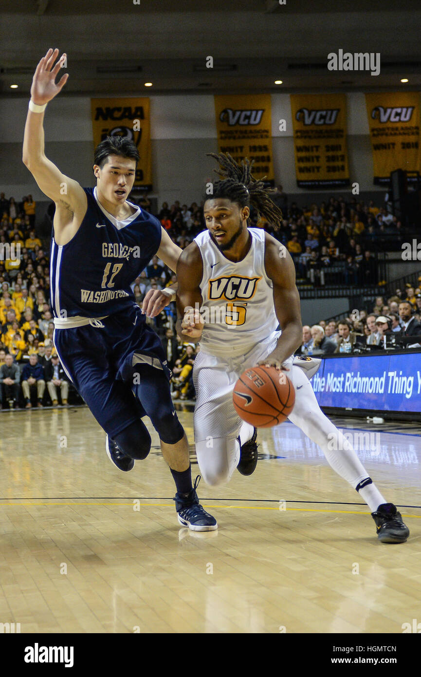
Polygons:
<instances>
[{"instance_id":1,"label":"white sleeveless VCU jersey with number 5","mask_svg":"<svg viewBox=\"0 0 421 677\"><path fill-rule=\"evenodd\" d=\"M265 271L265 231L248 232L252 244L238 263L225 258L208 230L194 238L203 261L200 349L210 355L245 355L254 345L279 335L273 284Z\"/></svg>"}]
</instances>

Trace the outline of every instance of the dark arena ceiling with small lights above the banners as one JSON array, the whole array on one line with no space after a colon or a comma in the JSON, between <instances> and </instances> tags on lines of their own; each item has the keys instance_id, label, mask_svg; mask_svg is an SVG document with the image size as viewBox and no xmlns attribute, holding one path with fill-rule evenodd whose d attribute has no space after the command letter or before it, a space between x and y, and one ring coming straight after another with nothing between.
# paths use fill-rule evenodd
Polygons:
<instances>
[{"instance_id":1,"label":"dark arena ceiling with small lights above the banners","mask_svg":"<svg viewBox=\"0 0 421 677\"><path fill-rule=\"evenodd\" d=\"M1 0L0 95L27 96L48 47L63 95L421 89L420 0L134 1ZM380 53L380 74L328 70L340 49Z\"/></svg>"}]
</instances>

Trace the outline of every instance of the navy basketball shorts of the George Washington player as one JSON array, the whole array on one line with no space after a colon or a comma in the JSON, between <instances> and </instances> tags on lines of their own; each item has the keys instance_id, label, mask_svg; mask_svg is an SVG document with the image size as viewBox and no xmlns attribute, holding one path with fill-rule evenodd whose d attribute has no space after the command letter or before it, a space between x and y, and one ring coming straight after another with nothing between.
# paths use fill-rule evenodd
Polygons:
<instances>
[{"instance_id":1,"label":"navy basketball shorts of the George Washington player","mask_svg":"<svg viewBox=\"0 0 421 677\"><path fill-rule=\"evenodd\" d=\"M146 416L132 392L138 364L150 364L165 374L157 379L157 387L162 401L171 401L171 371L164 350L139 306L133 304L93 324L56 328L53 341L66 374L110 437Z\"/></svg>"}]
</instances>

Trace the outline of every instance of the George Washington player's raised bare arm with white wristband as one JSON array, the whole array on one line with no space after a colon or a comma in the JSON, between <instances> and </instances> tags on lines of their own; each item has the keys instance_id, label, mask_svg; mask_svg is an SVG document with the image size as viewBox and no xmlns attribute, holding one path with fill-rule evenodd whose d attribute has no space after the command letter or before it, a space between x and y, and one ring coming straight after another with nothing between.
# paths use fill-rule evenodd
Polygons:
<instances>
[{"instance_id":1,"label":"George Washington player's raised bare arm with white wristband","mask_svg":"<svg viewBox=\"0 0 421 677\"><path fill-rule=\"evenodd\" d=\"M68 79L66 73L56 84L56 77L66 59L66 54L62 54L58 61L57 58L58 49L54 51L49 49L35 70L30 88L31 98L26 118L22 161L43 193L56 202L59 210L66 211L66 214L62 215L64 218L55 219L54 223L56 233L60 236L60 230L70 221L74 221L75 217L82 220L87 198L81 185L64 175L44 152L44 109L62 90ZM80 222L78 227L79 225Z\"/></svg>"}]
</instances>

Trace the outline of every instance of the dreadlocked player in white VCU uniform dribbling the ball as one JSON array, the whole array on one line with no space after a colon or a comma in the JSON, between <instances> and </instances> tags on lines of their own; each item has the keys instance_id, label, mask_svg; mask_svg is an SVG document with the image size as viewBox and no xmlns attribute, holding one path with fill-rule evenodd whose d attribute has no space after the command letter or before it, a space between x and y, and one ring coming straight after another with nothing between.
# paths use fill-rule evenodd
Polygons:
<instances>
[{"instance_id":1,"label":"dreadlocked player in white VCU uniform dribbling the ball","mask_svg":"<svg viewBox=\"0 0 421 677\"><path fill-rule=\"evenodd\" d=\"M270 190L250 174L248 160L240 166L229 155L210 155L218 160L223 179L204 202L208 230L183 250L177 263L177 332L184 340L200 341L193 377L202 477L217 485L228 481L236 467L243 475L254 471L257 431L236 413L232 393L247 368L274 366L285 370L294 385L289 420L322 448L334 471L370 506L380 541L404 542L409 529L400 513L386 503L351 443L319 408L305 370L292 364L302 341L294 263L278 240L247 227L250 205L277 227L282 213L271 202Z\"/></svg>"}]
</instances>

